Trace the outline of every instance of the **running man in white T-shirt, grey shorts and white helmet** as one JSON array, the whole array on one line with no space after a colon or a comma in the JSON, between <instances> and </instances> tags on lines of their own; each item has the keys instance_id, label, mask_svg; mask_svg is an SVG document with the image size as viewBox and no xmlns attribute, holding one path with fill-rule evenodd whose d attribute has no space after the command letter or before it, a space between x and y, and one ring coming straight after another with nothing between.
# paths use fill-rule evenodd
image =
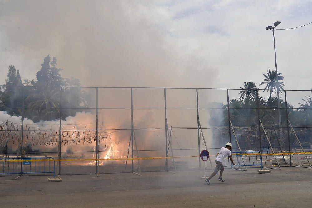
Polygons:
<instances>
[{"instance_id":1,"label":"running man in white T-shirt, grey shorts and white helmet","mask_svg":"<svg viewBox=\"0 0 312 208\"><path fill-rule=\"evenodd\" d=\"M215 160L216 168L213 171L213 173L209 176L209 178L207 178L205 180L208 185L209 185L209 180L212 179L212 177L215 176L219 170L220 170L220 177L218 178L218 180L221 182L224 182L224 180L222 179L222 173L224 171L224 166L223 166L222 162L226 156L229 156L233 166L235 166L235 163L233 162L233 159L231 156L231 149L232 149L232 144L230 142L227 142L225 144L225 147L224 146L221 147L221 150L220 150L220 152L219 152L219 154Z\"/></svg>"}]
</instances>

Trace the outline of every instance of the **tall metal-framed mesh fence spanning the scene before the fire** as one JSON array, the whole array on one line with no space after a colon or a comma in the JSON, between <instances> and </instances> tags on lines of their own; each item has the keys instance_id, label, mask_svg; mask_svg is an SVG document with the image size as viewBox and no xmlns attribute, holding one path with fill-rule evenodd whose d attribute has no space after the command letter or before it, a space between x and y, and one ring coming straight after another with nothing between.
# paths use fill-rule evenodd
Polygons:
<instances>
[{"instance_id":1,"label":"tall metal-framed mesh fence spanning the scene before the fire","mask_svg":"<svg viewBox=\"0 0 312 208\"><path fill-rule=\"evenodd\" d=\"M128 161L130 166L125 167L124 161L96 159L196 156L206 145L214 154L226 142L233 144L233 151L261 154L264 149L290 153L311 148L309 90L281 91L279 108L271 99L275 90L246 90L256 96L246 94L241 99L244 90L221 88L19 86L14 91L20 101L11 106L1 102L0 106L0 111L21 116L19 121L2 118L3 157L37 154L68 159L58 161L60 175L135 172L139 171L137 160ZM302 98L308 101L304 108L299 104ZM14 147L11 153L10 147ZM35 149L39 152L33 152ZM292 165L292 156L288 157ZM74 158L96 161L70 161ZM173 168L168 161L146 160L140 165L142 171L163 171ZM176 159L175 163L185 169L202 167L196 157Z\"/></svg>"}]
</instances>

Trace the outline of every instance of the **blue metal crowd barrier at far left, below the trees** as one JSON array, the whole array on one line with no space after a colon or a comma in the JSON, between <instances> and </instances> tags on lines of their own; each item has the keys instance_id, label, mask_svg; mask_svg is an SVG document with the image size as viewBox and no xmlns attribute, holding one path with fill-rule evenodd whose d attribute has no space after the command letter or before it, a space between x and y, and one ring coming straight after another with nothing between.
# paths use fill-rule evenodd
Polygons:
<instances>
[{"instance_id":1,"label":"blue metal crowd barrier at far left, below the trees","mask_svg":"<svg viewBox=\"0 0 312 208\"><path fill-rule=\"evenodd\" d=\"M53 161L47 160L52 159ZM19 160L27 160L16 162ZM34 160L34 161L32 161ZM39 161L37 161L39 160ZM46 161L40 161L46 160ZM8 157L0 159L0 175L7 174L34 174L34 173L53 173L55 178L55 161L53 157ZM53 167L52 167L53 165Z\"/></svg>"}]
</instances>

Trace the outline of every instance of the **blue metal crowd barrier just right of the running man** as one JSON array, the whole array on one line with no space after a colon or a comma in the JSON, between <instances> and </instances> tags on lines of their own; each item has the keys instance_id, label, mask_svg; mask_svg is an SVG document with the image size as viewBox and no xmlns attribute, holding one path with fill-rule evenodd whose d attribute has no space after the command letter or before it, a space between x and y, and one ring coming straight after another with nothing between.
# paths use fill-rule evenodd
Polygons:
<instances>
[{"instance_id":1,"label":"blue metal crowd barrier just right of the running man","mask_svg":"<svg viewBox=\"0 0 312 208\"><path fill-rule=\"evenodd\" d=\"M258 151L231 152L231 156L235 166L232 165L232 162L227 157L224 158L224 167L260 166L262 170L262 155Z\"/></svg>"}]
</instances>

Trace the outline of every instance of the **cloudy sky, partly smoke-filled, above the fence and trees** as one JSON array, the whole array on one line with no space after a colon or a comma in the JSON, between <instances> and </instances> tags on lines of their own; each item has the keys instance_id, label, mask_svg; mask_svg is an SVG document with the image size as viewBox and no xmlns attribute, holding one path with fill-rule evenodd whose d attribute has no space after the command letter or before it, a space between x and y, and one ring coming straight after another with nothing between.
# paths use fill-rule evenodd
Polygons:
<instances>
[{"instance_id":1,"label":"cloudy sky, partly smoke-filled, above the fence and trees","mask_svg":"<svg viewBox=\"0 0 312 208\"><path fill-rule=\"evenodd\" d=\"M239 88L275 68L265 30L312 22L312 1L0 0L0 83L50 54L84 86ZM285 89L311 89L312 24L276 30Z\"/></svg>"}]
</instances>

